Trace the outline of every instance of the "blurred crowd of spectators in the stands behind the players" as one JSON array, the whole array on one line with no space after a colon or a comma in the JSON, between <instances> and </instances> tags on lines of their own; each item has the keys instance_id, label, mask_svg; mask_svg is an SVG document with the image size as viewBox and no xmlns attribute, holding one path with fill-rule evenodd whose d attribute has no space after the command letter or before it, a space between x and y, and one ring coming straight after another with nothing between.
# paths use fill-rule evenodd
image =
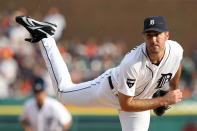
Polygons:
<instances>
[{"instance_id":1,"label":"blurred crowd of spectators in the stands behind the players","mask_svg":"<svg viewBox=\"0 0 197 131\"><path fill-rule=\"evenodd\" d=\"M54 95L38 44L25 42L29 33L15 22L15 16L26 14L25 9L0 13L0 99L27 97L37 77L45 80L48 94ZM117 66L128 51L128 43L124 41L61 38L66 19L55 7L41 18L58 25L55 39L75 83L95 78L108 68ZM197 50L182 61L180 88L185 98L197 97Z\"/></svg>"}]
</instances>

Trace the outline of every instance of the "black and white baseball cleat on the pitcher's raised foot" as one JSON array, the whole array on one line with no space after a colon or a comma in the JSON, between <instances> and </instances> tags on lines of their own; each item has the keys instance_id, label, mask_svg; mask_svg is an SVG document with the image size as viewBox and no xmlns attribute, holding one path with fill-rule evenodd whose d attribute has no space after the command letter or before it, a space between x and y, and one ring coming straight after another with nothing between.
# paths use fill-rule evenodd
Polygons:
<instances>
[{"instance_id":1,"label":"black and white baseball cleat on the pitcher's raised foot","mask_svg":"<svg viewBox=\"0 0 197 131\"><path fill-rule=\"evenodd\" d=\"M51 37L54 35L57 26L49 22L40 22L28 16L17 16L16 22L24 26L32 38L26 38L26 41L36 43L43 38Z\"/></svg>"}]
</instances>

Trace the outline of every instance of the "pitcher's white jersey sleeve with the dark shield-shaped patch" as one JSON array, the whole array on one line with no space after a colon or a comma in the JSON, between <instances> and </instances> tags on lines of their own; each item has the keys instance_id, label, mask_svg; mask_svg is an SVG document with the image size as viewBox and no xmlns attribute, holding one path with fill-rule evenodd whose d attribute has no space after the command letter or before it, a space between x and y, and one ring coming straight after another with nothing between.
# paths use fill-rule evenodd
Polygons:
<instances>
[{"instance_id":1,"label":"pitcher's white jersey sleeve with the dark shield-shaped patch","mask_svg":"<svg viewBox=\"0 0 197 131\"><path fill-rule=\"evenodd\" d=\"M137 72L133 64L129 62L131 59L125 57L119 65L118 76L118 92L127 96L134 96L136 89Z\"/></svg>"}]
</instances>

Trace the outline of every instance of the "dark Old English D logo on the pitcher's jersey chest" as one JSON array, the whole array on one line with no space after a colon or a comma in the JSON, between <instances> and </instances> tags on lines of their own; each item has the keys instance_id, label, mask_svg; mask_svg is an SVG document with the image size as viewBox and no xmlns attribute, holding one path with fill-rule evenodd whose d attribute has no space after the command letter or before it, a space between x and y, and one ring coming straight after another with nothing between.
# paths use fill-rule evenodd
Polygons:
<instances>
[{"instance_id":1,"label":"dark Old English D logo on the pitcher's jersey chest","mask_svg":"<svg viewBox=\"0 0 197 131\"><path fill-rule=\"evenodd\" d=\"M157 82L158 85L157 85L156 89L162 88L165 83L167 83L168 81L170 81L171 77L172 77L172 73L161 74L161 78Z\"/></svg>"}]
</instances>

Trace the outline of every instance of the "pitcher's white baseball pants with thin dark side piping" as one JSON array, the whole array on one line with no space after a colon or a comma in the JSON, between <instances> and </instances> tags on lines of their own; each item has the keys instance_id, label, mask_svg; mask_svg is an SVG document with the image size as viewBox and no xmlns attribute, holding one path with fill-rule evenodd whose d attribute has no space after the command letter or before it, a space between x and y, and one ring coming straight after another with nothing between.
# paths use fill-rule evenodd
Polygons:
<instances>
[{"instance_id":1,"label":"pitcher's white baseball pants with thin dark side piping","mask_svg":"<svg viewBox=\"0 0 197 131\"><path fill-rule=\"evenodd\" d=\"M59 101L77 107L116 108L119 110L122 131L148 131L150 111L121 111L118 96L109 85L110 69L94 80L74 84L55 40L52 37L42 39L40 48Z\"/></svg>"}]
</instances>

